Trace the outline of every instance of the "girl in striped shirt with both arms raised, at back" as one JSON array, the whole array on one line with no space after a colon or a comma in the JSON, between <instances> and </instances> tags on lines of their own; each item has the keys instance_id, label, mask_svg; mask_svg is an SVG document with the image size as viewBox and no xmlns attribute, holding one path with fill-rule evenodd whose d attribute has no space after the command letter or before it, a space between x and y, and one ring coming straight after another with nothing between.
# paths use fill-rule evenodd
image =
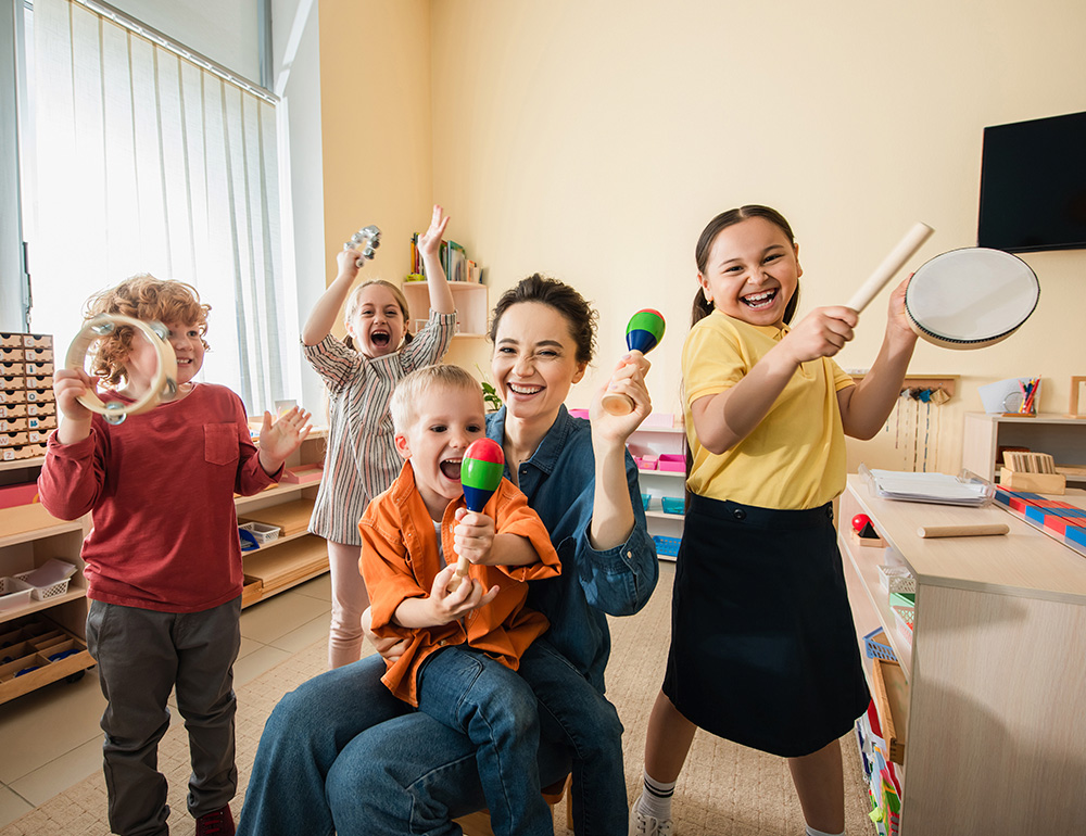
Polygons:
<instances>
[{"instance_id":1,"label":"girl in striped shirt with both arms raised, at back","mask_svg":"<svg viewBox=\"0 0 1086 836\"><path fill-rule=\"evenodd\" d=\"M393 443L389 398L408 371L438 363L456 325L453 294L438 258L449 217L433 207L430 228L418 241L430 290L430 317L417 334L407 300L395 284L380 279L351 286L358 276L357 250L337 256L339 273L317 300L302 328L305 358L328 390L328 452L310 531L328 541L332 616L328 664L357 661L362 653L362 613L369 606L358 570L362 540L358 520L369 501L399 476L403 460ZM350 293L350 299L348 294ZM346 302L346 339L330 331Z\"/></svg>"}]
</instances>

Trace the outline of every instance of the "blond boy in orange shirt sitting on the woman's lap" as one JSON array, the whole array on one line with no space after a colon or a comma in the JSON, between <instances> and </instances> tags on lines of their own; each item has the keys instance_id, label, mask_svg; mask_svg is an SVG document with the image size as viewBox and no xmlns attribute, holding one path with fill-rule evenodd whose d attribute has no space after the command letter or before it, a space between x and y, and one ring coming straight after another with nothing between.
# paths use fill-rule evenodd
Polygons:
<instances>
[{"instance_id":1,"label":"blond boy in orange shirt sitting on the woman's lap","mask_svg":"<svg viewBox=\"0 0 1086 836\"><path fill-rule=\"evenodd\" d=\"M465 507L460 461L487 430L475 378L427 366L399 383L390 409L405 464L358 523L371 630L407 643L382 681L476 744L495 834L553 836L535 760L535 696L516 670L550 626L525 607L525 582L557 575L558 555L507 479L483 512ZM471 566L451 592L457 556Z\"/></svg>"}]
</instances>

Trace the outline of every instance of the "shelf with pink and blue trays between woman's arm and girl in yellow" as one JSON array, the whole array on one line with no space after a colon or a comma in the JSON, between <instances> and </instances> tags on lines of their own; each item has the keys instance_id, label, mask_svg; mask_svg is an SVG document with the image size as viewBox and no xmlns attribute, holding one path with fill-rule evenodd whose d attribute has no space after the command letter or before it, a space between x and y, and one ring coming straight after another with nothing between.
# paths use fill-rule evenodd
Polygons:
<instances>
[{"instance_id":1,"label":"shelf with pink and blue trays between woman's arm and girl in yellow","mask_svg":"<svg viewBox=\"0 0 1086 836\"><path fill-rule=\"evenodd\" d=\"M646 420L653 420L651 416ZM657 420L664 420L657 418ZM681 427L643 423L627 446L637 464L648 532L662 560L674 560L682 540L685 503L686 436Z\"/></svg>"}]
</instances>

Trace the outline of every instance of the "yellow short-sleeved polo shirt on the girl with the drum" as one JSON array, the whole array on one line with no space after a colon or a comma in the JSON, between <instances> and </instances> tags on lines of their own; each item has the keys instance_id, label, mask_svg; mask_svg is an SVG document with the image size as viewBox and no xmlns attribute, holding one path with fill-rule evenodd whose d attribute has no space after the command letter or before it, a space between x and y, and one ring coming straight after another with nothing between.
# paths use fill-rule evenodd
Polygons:
<instances>
[{"instance_id":1,"label":"yellow short-sleeved polo shirt on the girl with the drum","mask_svg":"<svg viewBox=\"0 0 1086 836\"><path fill-rule=\"evenodd\" d=\"M687 487L700 496L781 510L817 508L845 487L845 433L837 392L855 381L829 357L800 365L755 430L717 455L698 443L691 404L735 385L788 332L719 311L698 321L682 350L683 411L693 454Z\"/></svg>"}]
</instances>

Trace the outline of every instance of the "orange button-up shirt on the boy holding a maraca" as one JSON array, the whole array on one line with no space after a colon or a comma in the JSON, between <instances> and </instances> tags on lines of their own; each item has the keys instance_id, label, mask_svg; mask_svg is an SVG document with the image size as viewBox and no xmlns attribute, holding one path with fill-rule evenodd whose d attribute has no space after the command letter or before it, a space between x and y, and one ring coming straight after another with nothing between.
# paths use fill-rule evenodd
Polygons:
<instances>
[{"instance_id":1,"label":"orange button-up shirt on the boy holding a maraca","mask_svg":"<svg viewBox=\"0 0 1086 836\"><path fill-rule=\"evenodd\" d=\"M453 528L456 510L462 507L463 497L450 503L441 520L442 550L449 562L455 560ZM358 522L362 534L358 566L369 591L370 629L377 635L409 642L396 661L387 662L381 682L413 706L418 706L418 668L430 654L447 645L467 643L517 670L520 656L550 626L543 613L525 606L526 581L554 578L561 572L546 527L507 479L502 480L483 514L493 518L496 534L528 539L540 561L529 566L470 566L468 577L488 590L498 586L497 597L463 619L432 628L403 628L392 621L404 600L430 594L433 579L442 568L433 521L415 487L411 463L404 464L396 481L369 504Z\"/></svg>"}]
</instances>

